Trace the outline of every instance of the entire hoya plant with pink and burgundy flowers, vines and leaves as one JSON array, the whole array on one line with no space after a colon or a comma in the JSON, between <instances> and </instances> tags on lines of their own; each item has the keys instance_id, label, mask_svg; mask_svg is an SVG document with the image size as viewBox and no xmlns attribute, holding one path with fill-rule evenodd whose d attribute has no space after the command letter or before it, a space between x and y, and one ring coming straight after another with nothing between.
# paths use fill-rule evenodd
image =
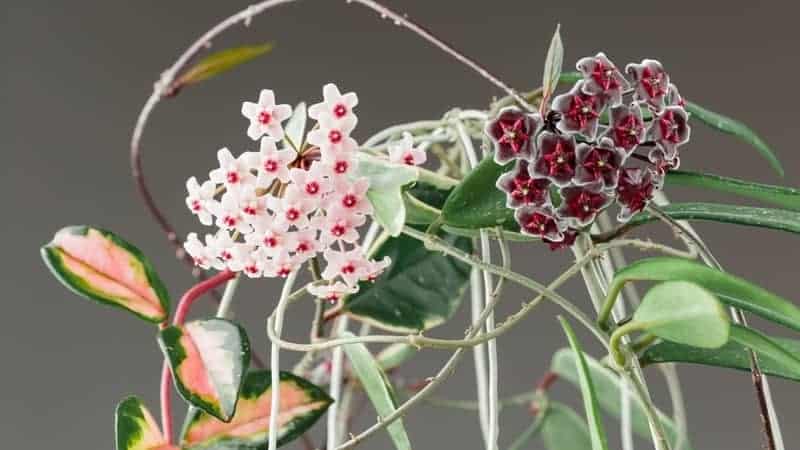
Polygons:
<instances>
[{"instance_id":1,"label":"entire hoya plant with pink and burgundy flowers, vines and leaves","mask_svg":"<svg viewBox=\"0 0 800 450\"><path fill-rule=\"evenodd\" d=\"M287 102L265 86L241 103L243 120L232 118L242 121L245 144L231 145L245 150L208 149L217 164L186 181L186 210L169 213L194 215L197 224L177 231L142 171L140 141L150 114L161 101L190 95L184 93L190 86L271 50L258 45L204 55L213 38L290 0L257 3L193 43L156 83L133 131L131 161L145 207L197 283L160 278L121 237L126 230L69 226L41 249L53 275L75 294L155 325L163 353L161 421L153 405L123 399L116 448L273 450L300 440L309 449L343 450L388 433L397 449L410 449L413 430L406 430L404 416L433 401L468 352L474 401L436 396L434 404L475 411L481 434L475 448L510 442L522 449L541 439L553 450L605 450L617 447L606 435L615 418L622 424L620 448L633 448L639 436L658 450L691 449L684 413L690 405L675 370L681 363L751 372L760 414L754 420L763 425L765 445L786 448L768 380L800 381L800 341L770 337L746 319L757 316L792 334L800 332L800 308L726 272L692 222L798 233L800 191L695 172L691 153L683 154L692 128L710 127L753 147L782 175L766 142L681 96L668 65L655 59L619 64L598 51L565 61L557 28L542 80L517 91L407 17L372 0L353 1L434 44L503 96L486 109L453 107L443 117L387 124L359 142L358 106L374 99L329 83L321 98L315 92ZM675 185L762 206L670 203ZM665 227L675 239L651 238ZM515 251L544 245L574 259L555 279L538 280L529 268L515 267L510 242ZM582 278L585 295L567 298L558 290L574 277ZM236 298L242 282L264 289L282 283L280 295L264 303L264 329L231 320L235 302L246 300ZM496 318L498 303L515 302L504 296L508 283L532 299ZM175 302L168 292L178 289L185 292ZM217 302L216 316L189 320L204 297ZM313 315L287 320L287 310L302 302L314 303ZM564 348L535 389L501 398L497 346L515 327L552 320L537 317L543 302L561 309ZM459 308L471 309L463 334L426 335ZM308 330L308 340L285 339L289 327ZM578 327L604 351L585 353L573 331ZM270 341L266 362L265 349L248 338L263 332ZM452 353L421 384L395 377L421 349ZM299 362L287 364L287 352L301 353ZM648 366L666 380L670 413L650 395L661 378L645 372ZM575 386L580 411L554 398L555 382ZM180 428L172 421L173 387L185 401ZM352 428L359 392L377 415L364 430ZM503 427L501 438L501 407L508 404L527 404L514 413L531 415L532 423L517 432ZM313 436L324 442L314 441L314 426Z\"/></svg>"}]
</instances>

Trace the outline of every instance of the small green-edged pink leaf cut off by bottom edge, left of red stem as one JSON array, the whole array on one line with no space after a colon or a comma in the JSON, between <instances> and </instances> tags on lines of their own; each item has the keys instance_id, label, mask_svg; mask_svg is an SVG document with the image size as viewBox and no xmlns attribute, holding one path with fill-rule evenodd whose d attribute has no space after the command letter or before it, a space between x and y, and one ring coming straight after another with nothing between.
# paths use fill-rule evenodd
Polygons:
<instances>
[{"instance_id":1,"label":"small green-edged pink leaf cut off by bottom edge, left of red stem","mask_svg":"<svg viewBox=\"0 0 800 450\"><path fill-rule=\"evenodd\" d=\"M117 450L178 450L167 445L153 415L136 397L117 405L114 421Z\"/></svg>"}]
</instances>

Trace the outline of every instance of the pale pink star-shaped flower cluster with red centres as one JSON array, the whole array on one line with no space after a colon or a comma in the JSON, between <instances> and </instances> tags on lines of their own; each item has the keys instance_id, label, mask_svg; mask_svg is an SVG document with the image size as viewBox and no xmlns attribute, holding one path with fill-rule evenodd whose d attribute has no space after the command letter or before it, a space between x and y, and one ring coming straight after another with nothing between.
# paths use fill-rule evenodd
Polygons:
<instances>
[{"instance_id":1,"label":"pale pink star-shaped flower cluster with red centres","mask_svg":"<svg viewBox=\"0 0 800 450\"><path fill-rule=\"evenodd\" d=\"M322 254L328 283L313 286L312 294L338 300L389 265L388 258L369 260L358 245L358 228L372 213L370 182L356 175L358 144L350 136L358 97L333 84L325 85L323 97L308 109L317 123L307 142L286 134L282 122L292 108L276 104L272 91L242 104L247 135L260 140L259 151L234 156L223 148L208 181L186 183L186 205L202 224L219 228L204 242L189 234L185 249L197 266L286 277Z\"/></svg>"}]
</instances>

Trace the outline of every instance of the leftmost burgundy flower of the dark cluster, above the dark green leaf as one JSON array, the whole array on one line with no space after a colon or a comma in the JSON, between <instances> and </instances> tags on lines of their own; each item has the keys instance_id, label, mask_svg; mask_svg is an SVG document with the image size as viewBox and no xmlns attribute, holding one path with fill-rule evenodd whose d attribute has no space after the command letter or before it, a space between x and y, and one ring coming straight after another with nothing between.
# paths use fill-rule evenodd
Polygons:
<instances>
[{"instance_id":1,"label":"leftmost burgundy flower of the dark cluster, above the dark green leaf","mask_svg":"<svg viewBox=\"0 0 800 450\"><path fill-rule=\"evenodd\" d=\"M531 159L534 138L542 127L538 114L525 114L516 107L500 110L496 119L486 124L485 132L494 142L494 160L505 164L512 159Z\"/></svg>"}]
</instances>

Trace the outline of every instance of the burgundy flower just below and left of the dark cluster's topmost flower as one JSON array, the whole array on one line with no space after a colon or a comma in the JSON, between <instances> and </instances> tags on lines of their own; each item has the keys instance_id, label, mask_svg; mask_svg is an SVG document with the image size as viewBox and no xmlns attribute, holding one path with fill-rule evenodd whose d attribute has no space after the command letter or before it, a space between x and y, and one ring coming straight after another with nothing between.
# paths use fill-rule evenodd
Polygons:
<instances>
[{"instance_id":1,"label":"burgundy flower just below and left of the dark cluster's topmost flower","mask_svg":"<svg viewBox=\"0 0 800 450\"><path fill-rule=\"evenodd\" d=\"M597 134L597 122L606 106L602 95L591 95L583 91L583 81L566 94L553 99L553 111L561 113L558 128L565 133L580 133L589 139Z\"/></svg>"}]
</instances>

